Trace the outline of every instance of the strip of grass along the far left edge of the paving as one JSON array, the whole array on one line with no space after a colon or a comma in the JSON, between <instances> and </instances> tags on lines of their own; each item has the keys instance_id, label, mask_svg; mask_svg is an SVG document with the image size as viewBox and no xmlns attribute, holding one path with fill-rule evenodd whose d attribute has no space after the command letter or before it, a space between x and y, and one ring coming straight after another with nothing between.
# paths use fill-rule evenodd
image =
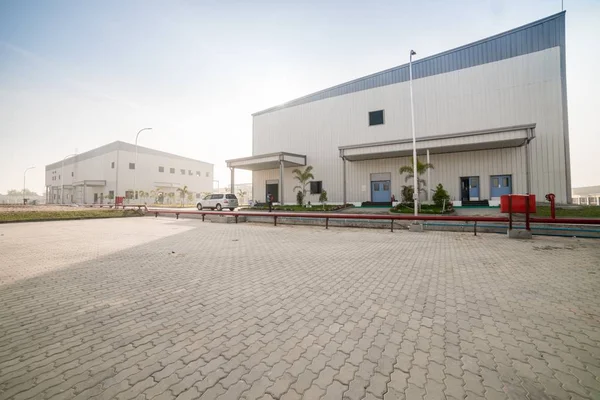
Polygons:
<instances>
[{"instance_id":1,"label":"strip of grass along the far left edge of the paving","mask_svg":"<svg viewBox=\"0 0 600 400\"><path fill-rule=\"evenodd\" d=\"M135 210L0 211L0 223L61 219L138 217Z\"/></svg>"}]
</instances>

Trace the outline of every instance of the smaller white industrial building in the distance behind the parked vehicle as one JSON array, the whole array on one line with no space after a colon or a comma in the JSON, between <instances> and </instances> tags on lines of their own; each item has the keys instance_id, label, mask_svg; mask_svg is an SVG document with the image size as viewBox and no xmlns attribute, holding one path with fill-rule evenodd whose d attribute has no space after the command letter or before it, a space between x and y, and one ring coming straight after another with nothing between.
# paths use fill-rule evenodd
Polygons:
<instances>
[{"instance_id":1,"label":"smaller white industrial building in the distance behind the parked vehicle","mask_svg":"<svg viewBox=\"0 0 600 400\"><path fill-rule=\"evenodd\" d=\"M213 164L141 146L137 153L136 165L135 146L117 141L46 165L46 202L109 204L122 196L179 203L177 189L187 186L193 203L212 191Z\"/></svg>"}]
</instances>

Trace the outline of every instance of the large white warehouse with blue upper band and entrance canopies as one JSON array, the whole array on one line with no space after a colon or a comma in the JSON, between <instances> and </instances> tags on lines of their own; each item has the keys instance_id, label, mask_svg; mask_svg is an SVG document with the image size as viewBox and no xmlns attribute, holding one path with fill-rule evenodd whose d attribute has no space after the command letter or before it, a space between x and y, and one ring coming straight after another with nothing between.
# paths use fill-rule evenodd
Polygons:
<instances>
[{"instance_id":1,"label":"large white warehouse with blue upper band and entrance canopies","mask_svg":"<svg viewBox=\"0 0 600 400\"><path fill-rule=\"evenodd\" d=\"M570 202L564 12L413 61L413 91L429 189L463 205L527 192ZM257 201L294 203L292 170L312 165L330 202L389 202L407 184L411 129L405 64L255 113L253 155L227 164L232 178L253 171Z\"/></svg>"}]
</instances>

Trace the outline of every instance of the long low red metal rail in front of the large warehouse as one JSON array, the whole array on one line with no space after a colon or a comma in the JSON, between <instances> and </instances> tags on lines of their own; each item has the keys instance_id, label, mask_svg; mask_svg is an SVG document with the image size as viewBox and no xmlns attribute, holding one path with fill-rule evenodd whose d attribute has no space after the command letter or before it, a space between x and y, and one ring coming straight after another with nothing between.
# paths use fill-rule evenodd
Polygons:
<instances>
[{"instance_id":1,"label":"long low red metal rail in front of the large warehouse","mask_svg":"<svg viewBox=\"0 0 600 400\"><path fill-rule=\"evenodd\" d=\"M496 222L509 224L512 222L512 216L488 217L488 216L471 216L471 215L383 215L383 214L343 214L343 213L294 213L294 212L244 212L244 211L192 211L192 210L157 210L149 209L148 213L154 213L155 217L159 214L174 214L177 219L179 215L201 215L204 221L207 215L220 215L235 217L235 222L238 223L239 217L271 217L273 224L277 226L278 218L312 218L324 219L325 229L329 229L329 220L387 220L390 221L390 230L394 231L394 221L448 221L448 222L473 222L474 234L477 235L478 222ZM600 225L599 218L528 218L531 223L545 224L585 224L585 225ZM529 226L527 226L529 227Z\"/></svg>"}]
</instances>

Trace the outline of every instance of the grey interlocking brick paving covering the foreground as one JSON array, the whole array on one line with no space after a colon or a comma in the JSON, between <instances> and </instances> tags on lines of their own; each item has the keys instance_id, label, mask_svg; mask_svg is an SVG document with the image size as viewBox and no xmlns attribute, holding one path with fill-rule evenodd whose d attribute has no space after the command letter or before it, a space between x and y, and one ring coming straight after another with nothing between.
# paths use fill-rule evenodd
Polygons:
<instances>
[{"instance_id":1,"label":"grey interlocking brick paving covering the foreground","mask_svg":"<svg viewBox=\"0 0 600 400\"><path fill-rule=\"evenodd\" d=\"M597 241L0 225L2 399L600 397Z\"/></svg>"}]
</instances>

